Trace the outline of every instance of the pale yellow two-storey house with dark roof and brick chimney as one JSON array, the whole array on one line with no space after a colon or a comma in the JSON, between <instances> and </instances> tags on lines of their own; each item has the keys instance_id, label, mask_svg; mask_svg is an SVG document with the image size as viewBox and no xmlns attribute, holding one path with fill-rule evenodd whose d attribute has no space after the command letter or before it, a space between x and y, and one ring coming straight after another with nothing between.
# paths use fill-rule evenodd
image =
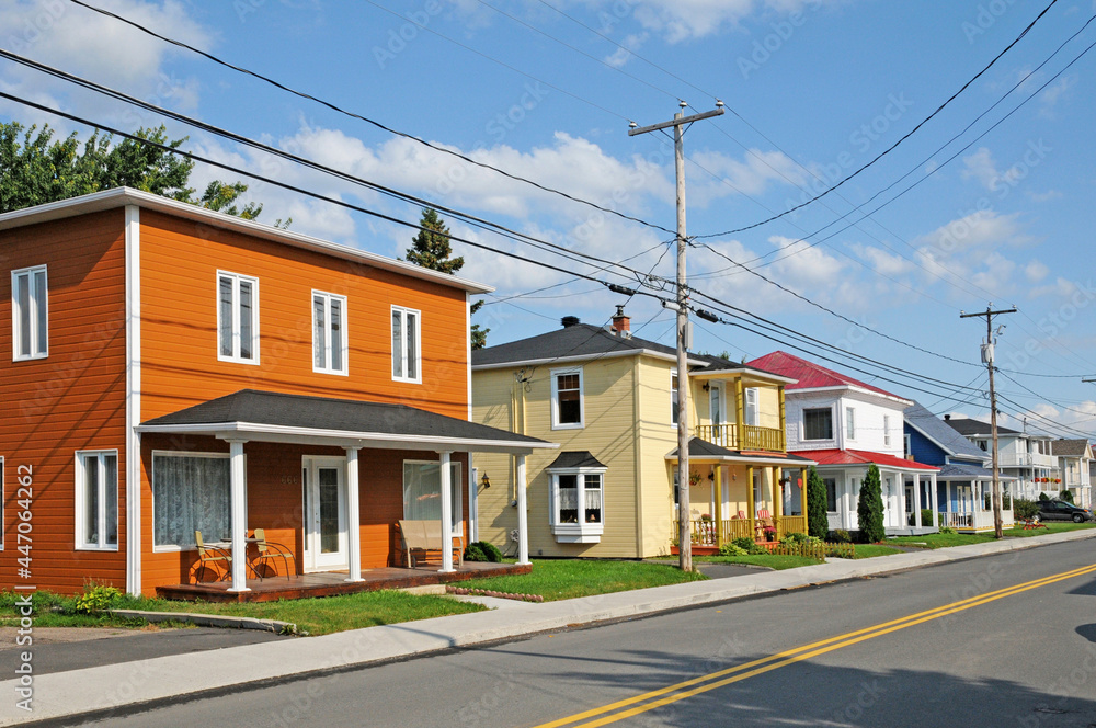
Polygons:
<instances>
[{"instance_id":1,"label":"pale yellow two-storey house with dark roof and brick chimney","mask_svg":"<svg viewBox=\"0 0 1096 728\"><path fill-rule=\"evenodd\" d=\"M642 558L677 543L674 349L566 317L561 329L472 352L472 420L560 444L526 462L533 556ZM689 503L695 550L806 532L788 455L784 387L795 379L689 355ZM478 538L513 549L517 465L477 455Z\"/></svg>"}]
</instances>

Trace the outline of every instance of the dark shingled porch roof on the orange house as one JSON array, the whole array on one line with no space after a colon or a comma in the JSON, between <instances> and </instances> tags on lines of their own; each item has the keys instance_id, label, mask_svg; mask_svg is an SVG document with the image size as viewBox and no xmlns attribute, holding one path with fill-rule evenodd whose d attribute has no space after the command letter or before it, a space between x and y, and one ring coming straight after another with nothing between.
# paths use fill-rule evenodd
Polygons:
<instances>
[{"instance_id":1,"label":"dark shingled porch roof on the orange house","mask_svg":"<svg viewBox=\"0 0 1096 728\"><path fill-rule=\"evenodd\" d=\"M210 399L148 420L142 422L141 426L214 425L232 422L396 437L453 437L545 444L543 440L535 437L406 405L287 395L255 389L241 389L225 397Z\"/></svg>"}]
</instances>

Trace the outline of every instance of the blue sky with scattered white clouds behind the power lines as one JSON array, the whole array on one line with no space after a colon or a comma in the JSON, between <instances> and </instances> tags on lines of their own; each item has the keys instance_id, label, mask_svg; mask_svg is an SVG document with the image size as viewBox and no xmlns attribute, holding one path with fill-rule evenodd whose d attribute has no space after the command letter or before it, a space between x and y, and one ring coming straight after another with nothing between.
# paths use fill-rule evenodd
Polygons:
<instances>
[{"instance_id":1,"label":"blue sky with scattered white clouds behind the power lines","mask_svg":"<svg viewBox=\"0 0 1096 728\"><path fill-rule=\"evenodd\" d=\"M721 99L730 113L697 123L685 137L688 234L746 227L813 196L911 132L1047 4L88 2L650 226L600 214L383 133L69 0L5 3L0 44L357 177L571 250L612 261L631 258L628 265L666 277L673 275L674 255L660 262L665 251L660 243L672 235L658 228L675 225L669 139L659 134L629 137L629 121L665 121L677 111L678 99L689 103L688 113L712 109ZM1096 385L1080 380L1080 375L1096 375L1096 164L1089 90L1096 53L1065 69L1096 41L1096 23L1048 61L1094 13L1091 0L1057 2L984 76L861 174L776 221L704 239L723 255L756 266L757 273L853 321L939 355L858 328L703 248L689 251L690 283L822 341L955 385L984 386L985 380L974 366L984 328L977 319L960 320L960 309L984 309L991 300L996 307L1016 305L1019 314L1002 318L1007 329L997 355L998 365L1019 384L998 382L1012 400L1002 408L1013 416L1032 412L1032 429L1042 416L1096 432ZM0 89L122 128L160 123L7 61L0 62ZM0 117L48 121L66 133L87 134L9 102L0 102ZM419 217L416 208L359 186L180 124L169 127L173 137L190 135L187 147L198 153L395 217ZM195 181L229 177L199 169ZM863 211L841 219L897 181ZM292 217L295 230L375 252L402 254L412 235L262 183L252 184L250 194L266 205L262 220ZM626 282L459 220L450 220L450 227L455 235L525 258ZM824 232L810 237L822 228ZM596 283L456 248L466 258L463 275L498 288L477 316L491 329L489 343L549 330L566 315L604 323L615 305L626 302ZM521 295L545 286L556 287ZM632 298L627 310L639 335L672 343L673 320L655 299ZM781 346L739 328L698 322L695 348L752 359ZM863 378L915 397L937 412L987 412L977 393L960 390L960 399L970 397L961 405L938 401L954 387L926 386L938 391L934 396ZM1015 417L1005 421L1018 424Z\"/></svg>"}]
</instances>

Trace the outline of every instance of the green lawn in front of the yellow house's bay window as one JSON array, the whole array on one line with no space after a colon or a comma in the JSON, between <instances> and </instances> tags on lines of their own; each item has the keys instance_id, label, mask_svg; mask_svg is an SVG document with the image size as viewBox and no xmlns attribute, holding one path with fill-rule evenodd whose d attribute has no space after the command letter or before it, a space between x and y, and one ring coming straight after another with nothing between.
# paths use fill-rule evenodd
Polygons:
<instances>
[{"instance_id":1,"label":"green lawn in front of the yellow house's bay window","mask_svg":"<svg viewBox=\"0 0 1096 728\"><path fill-rule=\"evenodd\" d=\"M670 562L535 560L532 573L470 579L458 585L490 589L511 594L539 594L546 602L592 594L664 587L707 579L700 573L683 573Z\"/></svg>"}]
</instances>

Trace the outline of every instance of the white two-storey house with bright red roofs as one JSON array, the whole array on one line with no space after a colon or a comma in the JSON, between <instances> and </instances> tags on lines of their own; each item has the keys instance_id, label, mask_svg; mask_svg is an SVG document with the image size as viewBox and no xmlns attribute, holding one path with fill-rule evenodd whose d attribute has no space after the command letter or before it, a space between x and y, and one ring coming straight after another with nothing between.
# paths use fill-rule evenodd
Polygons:
<instances>
[{"instance_id":1,"label":"white two-storey house with bright red roofs","mask_svg":"<svg viewBox=\"0 0 1096 728\"><path fill-rule=\"evenodd\" d=\"M875 464L888 535L938 530L939 468L905 456L902 412L913 401L783 351L746 366L796 379L785 388L788 452L818 463L831 528L858 527L860 484ZM932 523L922 522L922 509L932 511Z\"/></svg>"}]
</instances>

